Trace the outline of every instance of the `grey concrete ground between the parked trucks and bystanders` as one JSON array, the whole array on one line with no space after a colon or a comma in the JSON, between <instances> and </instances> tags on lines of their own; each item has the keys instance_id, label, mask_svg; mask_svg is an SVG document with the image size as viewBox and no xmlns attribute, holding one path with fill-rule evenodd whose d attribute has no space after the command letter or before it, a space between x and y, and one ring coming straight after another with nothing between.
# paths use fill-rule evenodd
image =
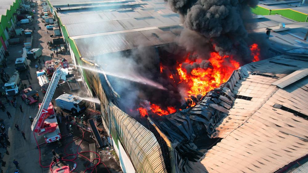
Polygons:
<instances>
[{"instance_id":1,"label":"grey concrete ground between the parked trucks and bystanders","mask_svg":"<svg viewBox=\"0 0 308 173\"><path fill-rule=\"evenodd\" d=\"M51 41L49 34L47 34L46 27L44 26L44 23L41 23L41 19L39 18L39 13L42 12L42 8L40 6L35 7L36 11L39 11L35 14L35 18L32 22L32 25L29 26L20 26L20 28L26 29L32 29L33 26L36 27L36 30L33 33L33 48L42 48L43 49L43 56L40 57L41 60L51 60L50 54L52 53L51 50L47 48L47 42ZM36 23L36 20L38 23ZM41 26L42 30L38 30L38 26ZM19 27L19 26L17 26ZM52 33L52 31L50 31ZM21 40L23 40L23 36L21 37ZM17 44L17 45L11 45L8 47L8 51L10 52L10 56L7 57L7 66L4 70L7 74L11 75L13 74L15 67L14 62L16 58L25 57L27 50L23 48L23 43ZM57 57L55 57L57 58ZM71 62L71 56L70 54L60 54L60 58L66 58L69 62ZM55 60L55 59L54 59ZM40 91L40 87L36 78L36 69L35 64L37 64L37 61L29 62L29 70L31 74L30 80L27 80L26 74L27 71L20 71L20 78L22 79L23 83L26 83L28 86L31 85L33 89L39 91L39 103L43 101L43 93ZM2 89L2 86L4 84L0 83L0 90L4 91ZM69 93L69 89L65 85L60 86L54 95L54 98L58 97L60 94L63 94L63 92ZM7 147L7 151L3 148L0 148L0 153L2 154L2 160L6 162L5 167L1 167L3 172L10 173L13 172L15 169L15 165L13 164L13 160L16 159L19 163L20 172L26 173L26 172L50 172L49 167L48 168L42 168L39 165L39 151L37 149L37 145L33 136L33 132L31 131L31 125L29 121L29 116L35 117L37 114L37 106L38 103L34 103L30 106L26 105L21 97L19 95L16 96L17 98L17 108L14 108L13 106L9 105L9 103L5 104L6 111L9 111L12 115L12 118L8 119L5 112L2 113L1 111L1 117L4 121L2 122L7 130L8 136L9 136L9 144ZM8 99L12 99L11 96L8 97ZM23 112L19 110L19 105L22 105ZM60 110L60 108L55 107L55 109ZM65 111L64 111L65 112ZM17 131L17 129L14 127L15 124L18 124L20 131ZM51 150L54 149L56 153L62 152L64 156L66 155L64 153L65 146L72 141L72 139L76 139L76 136L81 135L81 131L78 129L74 130L74 135L69 134L69 132L66 130L64 119L62 120L62 123L59 123L61 134L64 136L63 139L61 139L62 146L60 147L57 143L49 143L49 144L43 144L40 146L41 149L41 163L43 166L49 166L52 161L52 154ZM21 131L25 132L26 139L23 139L21 135ZM81 151L88 151L89 150L89 143L95 143L93 139L90 139L88 136L90 134L85 134L85 139L80 145L79 152ZM44 139L42 136L37 136L36 138L38 140L38 143L44 143ZM77 146L80 143L80 139L76 140L75 142L68 145L67 152L69 154L76 153ZM106 149L105 149L106 150ZM97 149L97 152L104 153L101 149ZM84 154L86 157L89 157L89 153ZM70 156L72 157L72 156ZM105 163L105 165L108 167L108 170L110 172L121 172L121 168L118 166L118 164L113 160L109 159L108 155L101 155L102 161ZM89 163L84 158L78 156L76 160L77 167L74 172L84 172L86 169L87 164ZM65 162L64 162L65 163ZM70 166L74 166L72 162L67 162L65 164L69 164ZM60 163L60 166L63 164ZM76 165L75 165L76 166ZM57 168L57 166L53 167L54 169ZM88 171L91 172L91 171ZM100 164L98 166L97 172L108 172L107 169L103 164Z\"/></svg>"}]
</instances>

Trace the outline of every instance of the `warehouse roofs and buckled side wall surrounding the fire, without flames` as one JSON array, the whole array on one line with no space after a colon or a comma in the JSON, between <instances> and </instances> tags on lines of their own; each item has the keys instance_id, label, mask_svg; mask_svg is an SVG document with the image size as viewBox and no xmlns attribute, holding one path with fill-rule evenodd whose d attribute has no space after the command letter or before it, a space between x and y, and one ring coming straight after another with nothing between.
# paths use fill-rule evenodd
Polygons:
<instances>
[{"instance_id":1,"label":"warehouse roofs and buckled side wall surrounding the fire, without flames","mask_svg":"<svg viewBox=\"0 0 308 173\"><path fill-rule=\"evenodd\" d=\"M159 0L47 2L73 63L97 71L99 57L159 49L182 28L179 15ZM272 29L274 57L240 67L191 110L149 117L148 126L119 108L108 75L78 69L88 93L101 101L123 172L274 172L306 157L307 18L267 14L261 6L252 10L258 15L249 32L265 37Z\"/></svg>"}]
</instances>

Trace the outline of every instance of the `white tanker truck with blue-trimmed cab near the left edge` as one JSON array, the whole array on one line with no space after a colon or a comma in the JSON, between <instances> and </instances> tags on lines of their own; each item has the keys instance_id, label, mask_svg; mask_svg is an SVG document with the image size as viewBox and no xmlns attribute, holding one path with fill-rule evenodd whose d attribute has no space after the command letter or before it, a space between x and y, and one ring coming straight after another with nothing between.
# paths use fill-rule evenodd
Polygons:
<instances>
[{"instance_id":1,"label":"white tanker truck with blue-trimmed cab near the left edge","mask_svg":"<svg viewBox=\"0 0 308 173\"><path fill-rule=\"evenodd\" d=\"M15 71L10 77L10 80L4 84L5 93L6 95L16 95L19 93L20 88L21 80L19 78L19 73Z\"/></svg>"}]
</instances>

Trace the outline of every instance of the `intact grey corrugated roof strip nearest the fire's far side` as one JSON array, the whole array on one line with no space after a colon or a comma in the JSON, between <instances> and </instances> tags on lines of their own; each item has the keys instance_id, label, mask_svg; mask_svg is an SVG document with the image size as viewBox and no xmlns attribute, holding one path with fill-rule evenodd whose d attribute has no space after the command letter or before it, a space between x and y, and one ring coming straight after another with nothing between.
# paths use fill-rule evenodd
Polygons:
<instances>
[{"instance_id":1,"label":"intact grey corrugated roof strip nearest the fire's far side","mask_svg":"<svg viewBox=\"0 0 308 173\"><path fill-rule=\"evenodd\" d=\"M153 33L160 38L157 38ZM173 42L173 37L175 35L170 31L154 29L78 38L75 42L81 56L85 59L92 60L93 57L101 54L134 49L138 46L154 46L171 43Z\"/></svg>"}]
</instances>

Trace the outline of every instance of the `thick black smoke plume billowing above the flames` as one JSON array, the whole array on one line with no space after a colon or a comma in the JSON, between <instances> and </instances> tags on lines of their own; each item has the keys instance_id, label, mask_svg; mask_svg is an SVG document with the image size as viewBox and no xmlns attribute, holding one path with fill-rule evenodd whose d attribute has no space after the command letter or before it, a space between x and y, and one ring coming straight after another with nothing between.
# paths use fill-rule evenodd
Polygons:
<instances>
[{"instance_id":1,"label":"thick black smoke plume billowing above the flames","mask_svg":"<svg viewBox=\"0 0 308 173\"><path fill-rule=\"evenodd\" d=\"M183 18L185 29L179 41L188 51L207 51L208 46L205 46L205 43L210 43L220 55L232 54L250 59L249 46L245 42L248 34L243 21L251 17L249 7L257 5L257 0L167 1L171 9ZM198 34L185 31L187 29L197 32L204 39L188 41ZM202 50L202 47L205 50Z\"/></svg>"}]
</instances>

